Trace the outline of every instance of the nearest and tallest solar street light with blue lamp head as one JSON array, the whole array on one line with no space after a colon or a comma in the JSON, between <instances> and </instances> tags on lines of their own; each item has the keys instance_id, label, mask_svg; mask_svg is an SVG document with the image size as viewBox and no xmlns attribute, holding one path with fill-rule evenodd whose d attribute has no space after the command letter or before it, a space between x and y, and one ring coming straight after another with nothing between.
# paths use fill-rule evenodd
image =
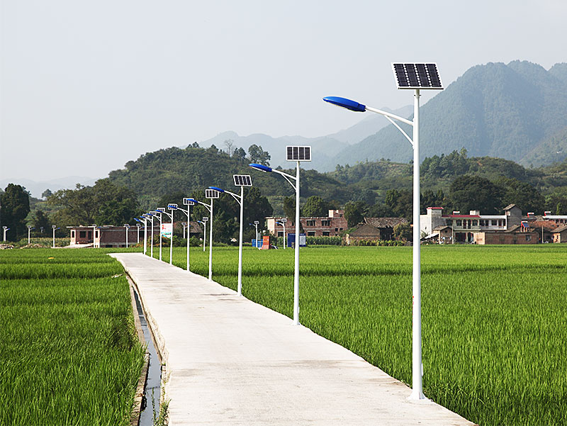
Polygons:
<instances>
[{"instance_id":1,"label":"nearest and tallest solar street light with blue lamp head","mask_svg":"<svg viewBox=\"0 0 567 426\"><path fill-rule=\"evenodd\" d=\"M338 96L327 96L323 101L342 106L351 111L372 111L385 116L400 130L413 147L413 267L412 267L412 393L410 399L424 399L422 386L422 342L421 342L421 252L420 252L420 90L438 89L443 85L434 63L393 63L392 70L398 89L414 91L413 120L371 108L362 103ZM400 128L400 121L411 125L412 138Z\"/></svg>"}]
</instances>

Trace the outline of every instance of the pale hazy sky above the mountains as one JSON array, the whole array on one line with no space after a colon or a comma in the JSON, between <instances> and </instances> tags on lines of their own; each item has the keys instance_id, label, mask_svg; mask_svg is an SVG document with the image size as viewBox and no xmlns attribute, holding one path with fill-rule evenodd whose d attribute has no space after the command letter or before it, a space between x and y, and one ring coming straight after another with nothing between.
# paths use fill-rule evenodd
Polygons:
<instances>
[{"instance_id":1,"label":"pale hazy sky above the mountains","mask_svg":"<svg viewBox=\"0 0 567 426\"><path fill-rule=\"evenodd\" d=\"M0 1L0 179L103 177L225 130L334 133L364 116L323 96L412 103L393 61L437 62L444 86L567 62L564 0Z\"/></svg>"}]
</instances>

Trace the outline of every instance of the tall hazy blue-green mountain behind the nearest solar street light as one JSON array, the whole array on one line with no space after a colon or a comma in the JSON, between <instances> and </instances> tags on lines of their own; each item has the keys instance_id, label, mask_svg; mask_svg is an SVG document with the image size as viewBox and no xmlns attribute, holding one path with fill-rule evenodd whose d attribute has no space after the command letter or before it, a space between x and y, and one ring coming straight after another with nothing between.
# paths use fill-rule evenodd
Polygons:
<instances>
[{"instance_id":1,"label":"tall hazy blue-green mountain behind the nearest solar street light","mask_svg":"<svg viewBox=\"0 0 567 426\"><path fill-rule=\"evenodd\" d=\"M420 109L422 159L465 147L472 156L539 166L567 157L566 135L566 64L549 70L525 61L477 65ZM411 156L408 142L390 125L332 161L407 162Z\"/></svg>"}]
</instances>

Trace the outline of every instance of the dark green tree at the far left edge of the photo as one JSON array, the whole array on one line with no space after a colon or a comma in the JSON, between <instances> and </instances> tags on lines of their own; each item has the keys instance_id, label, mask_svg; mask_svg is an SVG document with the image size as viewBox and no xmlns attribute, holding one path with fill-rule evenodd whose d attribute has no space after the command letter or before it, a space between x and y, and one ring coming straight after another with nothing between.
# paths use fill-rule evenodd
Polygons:
<instances>
[{"instance_id":1,"label":"dark green tree at the far left edge of the photo","mask_svg":"<svg viewBox=\"0 0 567 426\"><path fill-rule=\"evenodd\" d=\"M1 222L10 231L6 239L17 241L26 235L26 216L30 213L30 194L21 185L8 184L0 196Z\"/></svg>"}]
</instances>

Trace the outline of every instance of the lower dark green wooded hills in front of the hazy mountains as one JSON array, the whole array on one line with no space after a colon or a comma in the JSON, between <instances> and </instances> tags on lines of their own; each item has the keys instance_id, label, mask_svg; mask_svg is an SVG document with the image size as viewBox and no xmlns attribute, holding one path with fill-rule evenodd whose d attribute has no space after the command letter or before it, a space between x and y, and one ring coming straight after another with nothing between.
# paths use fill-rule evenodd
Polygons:
<instances>
[{"instance_id":1,"label":"lower dark green wooded hills in front of the hazy mountains","mask_svg":"<svg viewBox=\"0 0 567 426\"><path fill-rule=\"evenodd\" d=\"M232 175L250 174L254 186L268 196L275 213L281 213L283 198L293 196L293 188L281 176L250 169L249 162L253 161L243 150L228 155L214 146L204 149L195 144L184 149L172 147L148 152L125 164L125 169L111 172L109 178L115 184L133 189L142 208L150 208L168 194L189 195L208 186L235 191ZM288 172L295 174L294 170ZM468 157L466 150L427 157L421 165L422 194L439 190L448 194L452 182L465 175L479 176L502 187L535 191L549 198L550 206L564 203L567 208L567 161L552 167L526 169L510 160ZM411 164L384 159L352 167L337 166L335 172L328 173L302 170L301 198L303 202L310 196L320 196L337 208L348 201L372 206L383 203L388 191L411 191L411 181Z\"/></svg>"}]
</instances>

